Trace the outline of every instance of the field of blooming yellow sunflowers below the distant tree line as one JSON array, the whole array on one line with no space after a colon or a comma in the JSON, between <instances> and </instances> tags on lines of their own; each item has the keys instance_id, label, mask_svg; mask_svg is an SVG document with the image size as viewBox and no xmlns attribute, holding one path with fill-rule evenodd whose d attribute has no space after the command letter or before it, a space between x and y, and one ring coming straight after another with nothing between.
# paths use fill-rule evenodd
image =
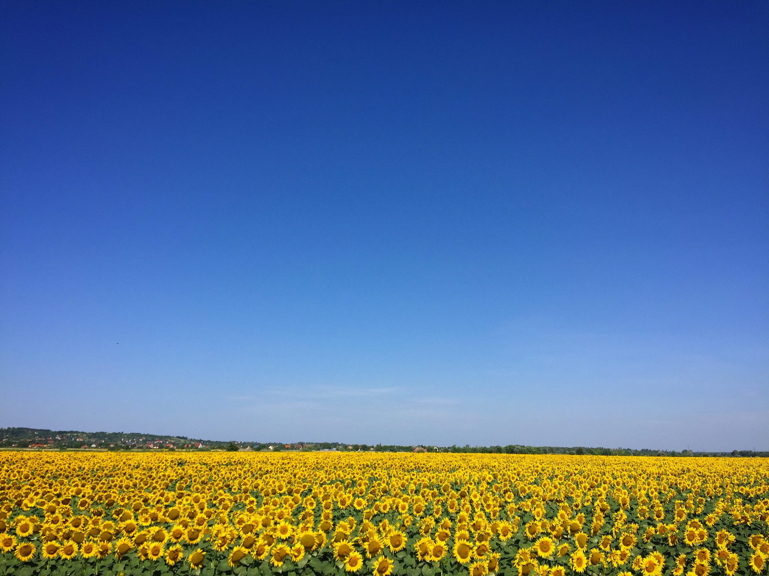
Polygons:
<instances>
[{"instance_id":1,"label":"field of blooming yellow sunflowers below the distant tree line","mask_svg":"<svg viewBox=\"0 0 769 576\"><path fill-rule=\"evenodd\" d=\"M766 574L769 460L0 452L0 575Z\"/></svg>"}]
</instances>

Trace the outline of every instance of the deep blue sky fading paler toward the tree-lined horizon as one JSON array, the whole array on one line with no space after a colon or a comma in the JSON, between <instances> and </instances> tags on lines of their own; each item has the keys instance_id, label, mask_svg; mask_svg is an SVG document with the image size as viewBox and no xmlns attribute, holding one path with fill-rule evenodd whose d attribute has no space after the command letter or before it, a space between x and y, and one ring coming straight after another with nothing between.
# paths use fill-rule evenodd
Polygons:
<instances>
[{"instance_id":1,"label":"deep blue sky fading paler toward the tree-lined horizon","mask_svg":"<svg viewBox=\"0 0 769 576\"><path fill-rule=\"evenodd\" d=\"M2 2L0 426L769 449L767 2Z\"/></svg>"}]
</instances>

